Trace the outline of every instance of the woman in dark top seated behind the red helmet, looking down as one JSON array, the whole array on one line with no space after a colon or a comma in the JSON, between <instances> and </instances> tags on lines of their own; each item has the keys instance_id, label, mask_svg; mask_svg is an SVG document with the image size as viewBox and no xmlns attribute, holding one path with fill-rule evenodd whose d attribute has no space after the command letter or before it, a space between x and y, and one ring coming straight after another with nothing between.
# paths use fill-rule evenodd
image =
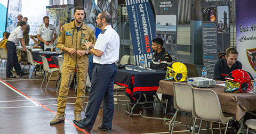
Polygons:
<instances>
[{"instance_id":1,"label":"woman in dark top seated behind the red helmet, looking down","mask_svg":"<svg viewBox=\"0 0 256 134\"><path fill-rule=\"evenodd\" d=\"M225 81L228 74L234 70L242 69L242 63L237 61L238 52L233 47L226 49L225 58L217 61L214 66L214 80Z\"/></svg>"}]
</instances>

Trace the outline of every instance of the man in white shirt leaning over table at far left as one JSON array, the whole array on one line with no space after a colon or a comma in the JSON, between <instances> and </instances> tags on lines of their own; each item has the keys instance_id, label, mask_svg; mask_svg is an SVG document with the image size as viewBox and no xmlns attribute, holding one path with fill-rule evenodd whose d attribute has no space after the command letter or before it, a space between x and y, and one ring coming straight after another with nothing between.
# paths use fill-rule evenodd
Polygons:
<instances>
[{"instance_id":1,"label":"man in white shirt leaning over table at far left","mask_svg":"<svg viewBox=\"0 0 256 134\"><path fill-rule=\"evenodd\" d=\"M18 27L13 29L11 32L11 35L9 36L7 43L6 43L6 49L7 49L7 63L6 63L6 77L7 78L16 78L16 76L13 76L12 74L12 68L14 67L16 73L18 76L22 77L27 75L28 73L24 73L21 70L20 63L18 62L18 56L16 51L16 45L18 45L19 41L21 43L21 46L23 47L23 50L26 52L27 48L25 45L25 41L23 39L23 29L25 29L27 26L26 21L20 21L18 23Z\"/></svg>"}]
</instances>

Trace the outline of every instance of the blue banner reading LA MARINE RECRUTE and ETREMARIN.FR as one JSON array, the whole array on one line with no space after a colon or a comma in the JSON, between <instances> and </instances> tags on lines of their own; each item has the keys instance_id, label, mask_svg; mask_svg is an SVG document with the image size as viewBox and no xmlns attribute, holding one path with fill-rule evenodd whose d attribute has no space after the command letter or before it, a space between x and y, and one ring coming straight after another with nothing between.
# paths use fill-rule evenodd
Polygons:
<instances>
[{"instance_id":1,"label":"blue banner reading LA MARINE RECRUTE and ETREMARIN.FR","mask_svg":"<svg viewBox=\"0 0 256 134\"><path fill-rule=\"evenodd\" d=\"M126 0L132 37L133 53L136 65L141 57L145 57L146 68L149 68L153 58L152 42L156 37L155 17L148 0Z\"/></svg>"}]
</instances>

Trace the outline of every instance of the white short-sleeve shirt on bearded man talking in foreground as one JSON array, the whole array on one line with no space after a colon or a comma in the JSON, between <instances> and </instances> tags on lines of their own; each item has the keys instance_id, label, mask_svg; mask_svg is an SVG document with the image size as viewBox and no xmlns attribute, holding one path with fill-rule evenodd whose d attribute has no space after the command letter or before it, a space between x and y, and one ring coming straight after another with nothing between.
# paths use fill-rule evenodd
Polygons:
<instances>
[{"instance_id":1,"label":"white short-sleeve shirt on bearded man talking in foreground","mask_svg":"<svg viewBox=\"0 0 256 134\"><path fill-rule=\"evenodd\" d=\"M113 64L119 60L119 35L110 25L105 27L105 29L99 34L94 45L94 49L102 51L103 55L101 57L93 56L93 63Z\"/></svg>"}]
</instances>

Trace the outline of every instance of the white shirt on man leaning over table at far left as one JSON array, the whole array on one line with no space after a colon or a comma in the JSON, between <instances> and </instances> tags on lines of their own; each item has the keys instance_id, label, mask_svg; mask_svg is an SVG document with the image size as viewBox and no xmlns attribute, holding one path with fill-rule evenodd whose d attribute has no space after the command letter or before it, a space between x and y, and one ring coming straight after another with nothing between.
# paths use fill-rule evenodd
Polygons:
<instances>
[{"instance_id":1,"label":"white shirt on man leaning over table at far left","mask_svg":"<svg viewBox=\"0 0 256 134\"><path fill-rule=\"evenodd\" d=\"M12 41L15 44L18 44L20 39L23 38L23 31L20 26L13 29L11 35L8 38L8 41Z\"/></svg>"}]
</instances>

